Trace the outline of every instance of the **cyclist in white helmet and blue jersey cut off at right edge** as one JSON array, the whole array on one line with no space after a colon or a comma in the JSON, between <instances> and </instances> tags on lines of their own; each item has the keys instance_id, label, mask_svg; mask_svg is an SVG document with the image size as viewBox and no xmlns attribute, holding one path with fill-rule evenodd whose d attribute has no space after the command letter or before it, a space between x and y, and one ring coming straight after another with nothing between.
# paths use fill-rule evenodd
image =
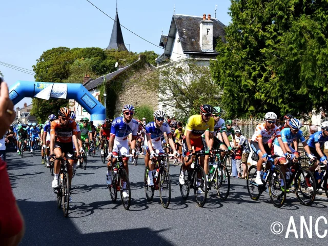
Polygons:
<instances>
[{"instance_id":1,"label":"cyclist in white helmet and blue jersey cut off at right edge","mask_svg":"<svg viewBox=\"0 0 328 246\"><path fill-rule=\"evenodd\" d=\"M310 151L317 158L317 162L309 168L312 172L317 168L319 162L327 165L327 157L323 153L324 143L326 141L328 141L328 121L322 122L321 131L312 134L308 140Z\"/></svg>"}]
</instances>

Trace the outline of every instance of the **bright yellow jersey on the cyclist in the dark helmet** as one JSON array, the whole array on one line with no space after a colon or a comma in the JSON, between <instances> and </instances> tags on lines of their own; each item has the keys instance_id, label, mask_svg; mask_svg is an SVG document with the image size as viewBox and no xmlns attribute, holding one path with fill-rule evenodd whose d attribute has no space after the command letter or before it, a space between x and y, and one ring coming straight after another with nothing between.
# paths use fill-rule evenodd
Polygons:
<instances>
[{"instance_id":1,"label":"bright yellow jersey on the cyclist in the dark helmet","mask_svg":"<svg viewBox=\"0 0 328 246\"><path fill-rule=\"evenodd\" d=\"M187 131L191 131L190 138L198 138L209 129L210 132L214 132L214 118L210 117L209 121L203 122L200 114L195 114L189 117L185 135Z\"/></svg>"}]
</instances>

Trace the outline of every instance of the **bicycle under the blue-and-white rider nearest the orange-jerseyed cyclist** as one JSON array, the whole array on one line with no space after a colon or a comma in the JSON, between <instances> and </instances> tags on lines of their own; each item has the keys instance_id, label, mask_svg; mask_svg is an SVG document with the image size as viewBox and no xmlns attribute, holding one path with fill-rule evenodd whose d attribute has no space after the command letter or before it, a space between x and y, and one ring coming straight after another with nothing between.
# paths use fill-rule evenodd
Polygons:
<instances>
[{"instance_id":1,"label":"bicycle under the blue-and-white rider nearest the orange-jerseyed cyclist","mask_svg":"<svg viewBox=\"0 0 328 246\"><path fill-rule=\"evenodd\" d=\"M117 191L120 192L121 200L123 207L126 210L129 210L131 204L131 188L130 188L130 181L127 171L124 169L123 158L125 157L132 157L133 155L118 155L113 156L116 158L117 161L115 166L112 168L112 185L107 185L109 188L109 192L111 195L112 201L116 201L117 198ZM126 182L126 188L124 188L124 183ZM123 196L123 192L126 190L129 194L128 197Z\"/></svg>"}]
</instances>

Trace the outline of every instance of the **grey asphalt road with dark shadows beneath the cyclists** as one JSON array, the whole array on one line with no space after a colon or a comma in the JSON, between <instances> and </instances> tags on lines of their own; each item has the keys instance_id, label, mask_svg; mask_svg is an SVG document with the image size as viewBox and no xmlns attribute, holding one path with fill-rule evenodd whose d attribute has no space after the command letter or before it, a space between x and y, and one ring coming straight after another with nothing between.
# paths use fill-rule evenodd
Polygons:
<instances>
[{"instance_id":1,"label":"grey asphalt road with dark shadows beneath the cyclists","mask_svg":"<svg viewBox=\"0 0 328 246\"><path fill-rule=\"evenodd\" d=\"M144 163L130 165L132 204L126 211L120 198L116 203L111 201L100 152L94 158L89 157L87 170L77 170L72 181L73 202L69 217L65 218L63 210L56 206L51 188L53 176L40 161L40 152L35 156L25 152L24 158L15 152L7 153L11 185L26 224L21 245L324 245L327 242L327 236L319 238L316 233L316 220L320 216L328 218L327 197L317 196L311 207L305 207L294 194L288 194L286 203L278 209L269 194L253 201L246 181L231 179L227 200L220 200L216 191L210 191L207 203L199 208L192 192L188 200L181 198L178 166L170 169L172 199L169 208L164 209L158 191L152 202L145 198ZM291 216L297 239L295 232L286 235ZM300 238L301 216L309 230L312 228L312 238L305 229ZM271 231L275 221L282 223L281 234ZM279 226L273 229L279 231ZM320 235L328 231L323 219L318 220L317 231Z\"/></svg>"}]
</instances>

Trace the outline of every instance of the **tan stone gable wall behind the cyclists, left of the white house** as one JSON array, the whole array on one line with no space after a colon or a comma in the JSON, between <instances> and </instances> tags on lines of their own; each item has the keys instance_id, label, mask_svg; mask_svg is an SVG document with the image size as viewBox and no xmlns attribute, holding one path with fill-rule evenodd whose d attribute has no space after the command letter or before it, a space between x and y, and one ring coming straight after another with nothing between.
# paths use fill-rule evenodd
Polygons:
<instances>
[{"instance_id":1,"label":"tan stone gable wall behind the cyclists, left of the white house","mask_svg":"<svg viewBox=\"0 0 328 246\"><path fill-rule=\"evenodd\" d=\"M122 92L119 94L115 105L115 116L121 114L122 107L126 104L132 104L134 107L141 105L149 105L154 110L158 109L158 95L157 93L146 91L140 86L133 83L133 80L141 81L142 77L151 73L155 68L146 64L145 68L141 68L132 77L126 79L122 85Z\"/></svg>"}]
</instances>

